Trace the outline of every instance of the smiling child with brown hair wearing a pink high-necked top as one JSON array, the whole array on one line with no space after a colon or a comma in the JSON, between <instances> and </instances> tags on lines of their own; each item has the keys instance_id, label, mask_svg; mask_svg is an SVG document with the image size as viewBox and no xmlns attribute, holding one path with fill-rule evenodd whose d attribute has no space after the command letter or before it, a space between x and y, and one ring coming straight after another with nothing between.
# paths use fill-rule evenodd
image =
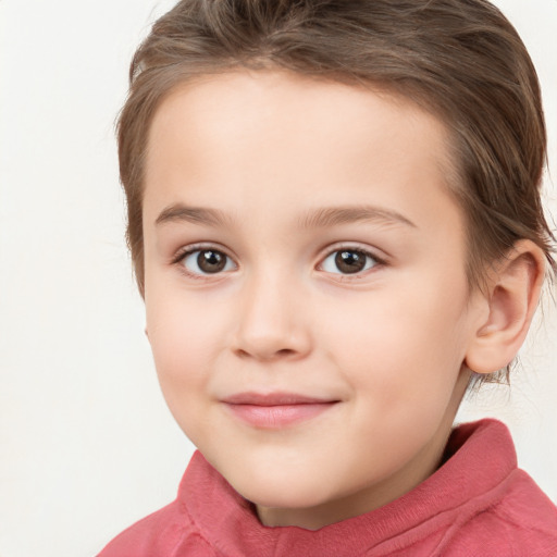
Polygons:
<instances>
[{"instance_id":1,"label":"smiling child with brown hair wearing a pink high-necked top","mask_svg":"<svg viewBox=\"0 0 557 557\"><path fill-rule=\"evenodd\" d=\"M555 556L505 425L555 269L536 75L485 0L184 0L119 127L177 499L101 557Z\"/></svg>"}]
</instances>

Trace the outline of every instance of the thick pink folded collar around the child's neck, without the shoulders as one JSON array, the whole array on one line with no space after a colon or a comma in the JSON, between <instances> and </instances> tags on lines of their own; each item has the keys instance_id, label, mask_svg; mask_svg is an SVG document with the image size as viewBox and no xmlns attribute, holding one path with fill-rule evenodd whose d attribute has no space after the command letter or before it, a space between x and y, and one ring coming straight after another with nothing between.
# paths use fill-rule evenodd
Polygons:
<instances>
[{"instance_id":1,"label":"thick pink folded collar around the child's neck, without the shoulders","mask_svg":"<svg viewBox=\"0 0 557 557\"><path fill-rule=\"evenodd\" d=\"M485 419L455 429L445 463L414 490L376 510L318 531L262 525L252 505L199 451L184 474L178 502L202 537L224 555L325 557L338 555L335 548L339 547L343 555L388 555L488 506L516 469L508 429Z\"/></svg>"}]
</instances>

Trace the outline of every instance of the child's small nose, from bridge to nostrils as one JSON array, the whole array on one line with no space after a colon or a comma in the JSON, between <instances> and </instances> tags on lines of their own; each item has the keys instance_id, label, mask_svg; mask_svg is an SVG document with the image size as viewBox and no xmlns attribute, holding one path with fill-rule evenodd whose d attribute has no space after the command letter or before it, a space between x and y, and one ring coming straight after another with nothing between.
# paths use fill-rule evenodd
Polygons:
<instances>
[{"instance_id":1,"label":"child's small nose, from bridge to nostrils","mask_svg":"<svg viewBox=\"0 0 557 557\"><path fill-rule=\"evenodd\" d=\"M233 351L261 361L306 357L312 346L306 306L292 280L273 273L253 276L238 296Z\"/></svg>"}]
</instances>

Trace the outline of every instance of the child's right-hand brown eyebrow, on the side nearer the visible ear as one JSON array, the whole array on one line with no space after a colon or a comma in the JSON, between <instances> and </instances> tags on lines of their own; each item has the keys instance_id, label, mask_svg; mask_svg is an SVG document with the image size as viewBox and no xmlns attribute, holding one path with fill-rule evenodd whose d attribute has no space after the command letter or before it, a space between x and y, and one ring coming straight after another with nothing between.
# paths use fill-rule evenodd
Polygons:
<instances>
[{"instance_id":1,"label":"child's right-hand brown eyebrow, on the side nearer the visible ear","mask_svg":"<svg viewBox=\"0 0 557 557\"><path fill-rule=\"evenodd\" d=\"M299 221L299 225L301 228L319 228L354 222L404 224L405 226L417 228L416 224L404 214L391 209L374 206L348 206L318 209L305 215Z\"/></svg>"}]
</instances>

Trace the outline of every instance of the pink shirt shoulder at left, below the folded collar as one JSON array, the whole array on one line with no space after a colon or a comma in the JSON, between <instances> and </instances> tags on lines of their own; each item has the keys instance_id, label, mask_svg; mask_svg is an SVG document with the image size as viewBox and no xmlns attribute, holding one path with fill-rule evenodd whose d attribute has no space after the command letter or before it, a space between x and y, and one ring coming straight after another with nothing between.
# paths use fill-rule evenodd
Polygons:
<instances>
[{"instance_id":1,"label":"pink shirt shoulder at left, below the folded collar","mask_svg":"<svg viewBox=\"0 0 557 557\"><path fill-rule=\"evenodd\" d=\"M97 557L171 557L177 550L181 555L214 555L186 509L175 500L124 530Z\"/></svg>"}]
</instances>

